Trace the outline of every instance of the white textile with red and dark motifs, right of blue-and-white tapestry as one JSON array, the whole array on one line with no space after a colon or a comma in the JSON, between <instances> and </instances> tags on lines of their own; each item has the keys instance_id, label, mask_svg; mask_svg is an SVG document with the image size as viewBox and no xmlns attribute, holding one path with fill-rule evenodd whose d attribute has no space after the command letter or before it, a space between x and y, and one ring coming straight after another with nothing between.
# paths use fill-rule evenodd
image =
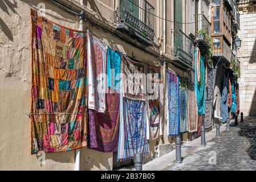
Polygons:
<instances>
[{"instance_id":1,"label":"white textile with red and dark motifs, right of blue-and-white tapestry","mask_svg":"<svg viewBox=\"0 0 256 182\"><path fill-rule=\"evenodd\" d=\"M154 75L155 74L155 75ZM147 66L147 123L149 123L148 139L156 139L162 135L163 114L163 77L162 68ZM155 77L156 76L156 77Z\"/></svg>"}]
</instances>

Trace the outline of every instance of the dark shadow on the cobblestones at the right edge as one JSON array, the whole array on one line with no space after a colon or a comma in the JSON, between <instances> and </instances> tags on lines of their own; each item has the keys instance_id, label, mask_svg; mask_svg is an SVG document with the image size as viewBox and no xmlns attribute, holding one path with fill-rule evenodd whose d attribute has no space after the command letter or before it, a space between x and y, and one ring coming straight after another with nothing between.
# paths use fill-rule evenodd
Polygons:
<instances>
[{"instance_id":1,"label":"dark shadow on the cobblestones at the right edge","mask_svg":"<svg viewBox=\"0 0 256 182\"><path fill-rule=\"evenodd\" d=\"M254 118L255 119L255 118ZM246 119L247 120L247 119ZM238 134L242 137L246 137L251 146L247 149L247 154L250 156L251 159L256 160L256 123L255 121L250 122L247 120L246 124L241 126L241 130L238 131Z\"/></svg>"}]
</instances>

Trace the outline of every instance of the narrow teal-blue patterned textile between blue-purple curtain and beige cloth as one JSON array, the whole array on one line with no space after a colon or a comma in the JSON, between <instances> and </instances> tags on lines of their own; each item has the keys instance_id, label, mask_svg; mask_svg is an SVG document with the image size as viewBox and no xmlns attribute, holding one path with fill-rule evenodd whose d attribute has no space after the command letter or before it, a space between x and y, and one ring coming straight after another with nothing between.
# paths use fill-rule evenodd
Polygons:
<instances>
[{"instance_id":1,"label":"narrow teal-blue patterned textile between blue-purple curtain and beige cloth","mask_svg":"<svg viewBox=\"0 0 256 182\"><path fill-rule=\"evenodd\" d=\"M188 80L180 78L179 82L180 133L188 131Z\"/></svg>"}]
</instances>

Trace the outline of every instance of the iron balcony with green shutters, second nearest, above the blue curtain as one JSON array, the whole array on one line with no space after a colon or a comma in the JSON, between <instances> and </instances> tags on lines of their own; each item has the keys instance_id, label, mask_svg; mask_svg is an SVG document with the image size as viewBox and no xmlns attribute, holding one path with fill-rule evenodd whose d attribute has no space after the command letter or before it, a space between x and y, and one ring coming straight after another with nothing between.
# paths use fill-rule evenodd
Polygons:
<instances>
[{"instance_id":1,"label":"iron balcony with green shutters, second nearest, above the blue curtain","mask_svg":"<svg viewBox=\"0 0 256 182\"><path fill-rule=\"evenodd\" d=\"M174 46L171 48L171 56L173 61L177 61L186 67L192 67L192 39L189 38L179 28L172 29L171 42Z\"/></svg>"}]
</instances>

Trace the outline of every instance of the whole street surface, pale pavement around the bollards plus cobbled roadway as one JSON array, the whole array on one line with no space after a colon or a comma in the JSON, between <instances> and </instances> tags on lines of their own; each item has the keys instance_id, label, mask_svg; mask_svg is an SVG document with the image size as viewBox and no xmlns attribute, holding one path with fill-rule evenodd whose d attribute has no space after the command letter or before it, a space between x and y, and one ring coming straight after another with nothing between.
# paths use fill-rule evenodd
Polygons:
<instances>
[{"instance_id":1,"label":"whole street surface, pale pavement around the bollards plus cobbled roadway","mask_svg":"<svg viewBox=\"0 0 256 182\"><path fill-rule=\"evenodd\" d=\"M160 171L222 171L256 170L256 118L245 118L243 123L226 131L221 126L221 137L215 137L216 130L206 133L206 147L201 139L186 142L181 147L182 163L175 163L175 150L143 166L143 170Z\"/></svg>"}]
</instances>

